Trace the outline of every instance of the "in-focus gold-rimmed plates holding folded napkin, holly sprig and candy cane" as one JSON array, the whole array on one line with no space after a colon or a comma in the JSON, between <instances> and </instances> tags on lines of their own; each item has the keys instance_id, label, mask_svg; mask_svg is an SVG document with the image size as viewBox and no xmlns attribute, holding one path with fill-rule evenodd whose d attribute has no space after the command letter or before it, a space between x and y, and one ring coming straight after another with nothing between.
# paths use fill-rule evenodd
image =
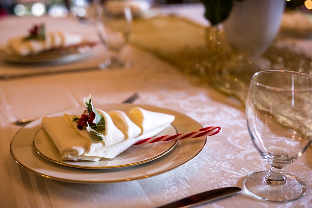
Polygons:
<instances>
[{"instance_id":1,"label":"in-focus gold-rimmed plates holding folded napkin, holly sprig and candy cane","mask_svg":"<svg viewBox=\"0 0 312 208\"><path fill-rule=\"evenodd\" d=\"M202 128L184 114L150 105L105 104L96 110L90 96L84 102L85 108L44 116L20 129L10 145L15 161L36 174L61 181L136 180L190 161L204 148L206 136L222 130ZM86 113L87 109L95 111L96 118ZM99 129L105 122L105 133L103 129L96 132L95 124L86 124L86 114L91 117L89 122L98 122Z\"/></svg>"}]
</instances>

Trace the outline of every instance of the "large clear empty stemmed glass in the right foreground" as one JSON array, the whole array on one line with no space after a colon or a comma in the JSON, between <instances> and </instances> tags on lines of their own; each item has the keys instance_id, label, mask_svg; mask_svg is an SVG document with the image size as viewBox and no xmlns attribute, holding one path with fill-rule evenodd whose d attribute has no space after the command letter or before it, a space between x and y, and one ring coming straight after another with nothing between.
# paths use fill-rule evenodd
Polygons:
<instances>
[{"instance_id":1,"label":"large clear empty stemmed glass in the right foreground","mask_svg":"<svg viewBox=\"0 0 312 208\"><path fill-rule=\"evenodd\" d=\"M258 199L287 202L305 194L306 186L284 167L312 142L312 76L268 70L251 78L246 120L252 143L270 164L244 180L245 190Z\"/></svg>"}]
</instances>

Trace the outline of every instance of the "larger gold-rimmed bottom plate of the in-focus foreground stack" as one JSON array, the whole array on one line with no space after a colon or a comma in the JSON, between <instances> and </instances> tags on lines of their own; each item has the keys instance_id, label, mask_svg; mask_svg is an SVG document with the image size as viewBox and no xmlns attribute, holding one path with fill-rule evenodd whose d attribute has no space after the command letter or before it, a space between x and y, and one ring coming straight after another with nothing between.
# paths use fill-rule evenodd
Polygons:
<instances>
[{"instance_id":1,"label":"larger gold-rimmed bottom plate of the in-focus foreground stack","mask_svg":"<svg viewBox=\"0 0 312 208\"><path fill-rule=\"evenodd\" d=\"M173 126L178 133L198 131L202 126L190 117L169 109L139 104L106 104L98 108L109 110L129 111L133 107L172 114L175 116ZM60 116L64 113L81 112L84 107L69 109L50 116ZM51 162L40 156L33 147L33 138L42 128L41 119L33 121L21 128L12 138L10 151L14 160L29 171L40 176L77 183L99 183L137 180L155 176L177 168L196 157L206 144L206 137L178 140L176 146L158 159L137 166L109 169L79 169L66 167Z\"/></svg>"}]
</instances>

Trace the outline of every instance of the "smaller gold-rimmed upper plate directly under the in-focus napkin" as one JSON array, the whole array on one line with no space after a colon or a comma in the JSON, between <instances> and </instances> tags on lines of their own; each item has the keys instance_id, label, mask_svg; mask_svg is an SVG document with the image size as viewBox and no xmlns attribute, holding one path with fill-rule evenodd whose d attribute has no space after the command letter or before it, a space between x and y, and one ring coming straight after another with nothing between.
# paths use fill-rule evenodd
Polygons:
<instances>
[{"instance_id":1,"label":"smaller gold-rimmed upper plate directly under the in-focus napkin","mask_svg":"<svg viewBox=\"0 0 312 208\"><path fill-rule=\"evenodd\" d=\"M177 134L177 130L173 125L170 125L156 136L173 134ZM86 169L127 167L150 162L172 150L176 143L177 141L132 145L113 159L102 158L99 161L72 161L62 160L60 151L44 128L39 129L33 140L36 151L46 159L64 166Z\"/></svg>"}]
</instances>

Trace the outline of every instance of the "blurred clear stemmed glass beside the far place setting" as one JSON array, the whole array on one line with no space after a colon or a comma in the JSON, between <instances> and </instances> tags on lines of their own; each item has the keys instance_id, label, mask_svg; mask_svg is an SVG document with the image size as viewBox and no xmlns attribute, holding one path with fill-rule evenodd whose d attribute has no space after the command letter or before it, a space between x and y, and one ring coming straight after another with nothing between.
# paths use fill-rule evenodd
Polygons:
<instances>
[{"instance_id":1,"label":"blurred clear stemmed glass beside the far place setting","mask_svg":"<svg viewBox=\"0 0 312 208\"><path fill-rule=\"evenodd\" d=\"M100 68L127 68L130 63L120 58L120 51L128 43L132 25L132 13L124 1L106 0L99 4L97 29L100 41L109 52Z\"/></svg>"}]
</instances>

